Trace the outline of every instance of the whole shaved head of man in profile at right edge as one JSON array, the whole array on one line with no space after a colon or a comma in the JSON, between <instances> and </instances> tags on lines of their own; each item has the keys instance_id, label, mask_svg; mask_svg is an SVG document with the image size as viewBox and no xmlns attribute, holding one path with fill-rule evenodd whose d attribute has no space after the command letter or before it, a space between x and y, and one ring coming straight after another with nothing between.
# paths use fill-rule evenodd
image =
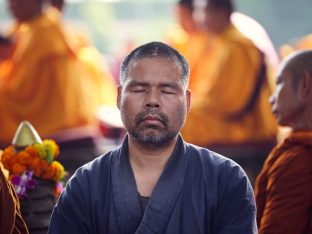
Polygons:
<instances>
[{"instance_id":1,"label":"whole shaved head of man in profile at right edge","mask_svg":"<svg viewBox=\"0 0 312 234\"><path fill-rule=\"evenodd\" d=\"M282 61L270 102L280 125L312 130L311 101L312 50L301 50Z\"/></svg>"}]
</instances>

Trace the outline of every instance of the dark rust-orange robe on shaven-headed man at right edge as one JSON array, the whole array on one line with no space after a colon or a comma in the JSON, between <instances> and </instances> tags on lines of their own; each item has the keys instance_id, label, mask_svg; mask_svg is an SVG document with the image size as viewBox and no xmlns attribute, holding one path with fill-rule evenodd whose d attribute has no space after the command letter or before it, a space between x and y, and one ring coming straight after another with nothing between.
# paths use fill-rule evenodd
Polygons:
<instances>
[{"instance_id":1,"label":"dark rust-orange robe on shaven-headed man at right edge","mask_svg":"<svg viewBox=\"0 0 312 234\"><path fill-rule=\"evenodd\" d=\"M256 181L259 234L312 233L312 132L277 145Z\"/></svg>"}]
</instances>

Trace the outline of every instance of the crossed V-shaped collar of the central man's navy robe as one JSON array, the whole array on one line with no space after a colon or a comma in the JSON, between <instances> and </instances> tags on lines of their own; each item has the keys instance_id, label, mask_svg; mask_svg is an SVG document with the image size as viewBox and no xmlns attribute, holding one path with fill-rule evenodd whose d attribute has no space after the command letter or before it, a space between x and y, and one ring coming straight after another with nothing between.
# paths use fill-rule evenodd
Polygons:
<instances>
[{"instance_id":1,"label":"crossed V-shaped collar of the central man's navy robe","mask_svg":"<svg viewBox=\"0 0 312 234\"><path fill-rule=\"evenodd\" d=\"M142 218L126 136L122 146L114 151L112 162L113 201L121 233L163 232L182 192L188 159L187 146L179 135Z\"/></svg>"}]
</instances>

